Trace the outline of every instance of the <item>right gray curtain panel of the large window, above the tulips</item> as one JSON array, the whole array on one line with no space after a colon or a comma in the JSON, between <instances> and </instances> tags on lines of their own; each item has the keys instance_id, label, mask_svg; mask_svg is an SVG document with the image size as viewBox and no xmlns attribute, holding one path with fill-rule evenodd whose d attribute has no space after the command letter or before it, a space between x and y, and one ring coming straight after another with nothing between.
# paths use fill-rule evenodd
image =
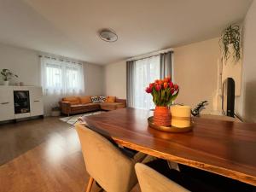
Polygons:
<instances>
[{"instance_id":1,"label":"right gray curtain panel of the large window, above the tulips","mask_svg":"<svg viewBox=\"0 0 256 192\"><path fill-rule=\"evenodd\" d=\"M172 77L172 54L173 51L160 54L160 79Z\"/></svg>"}]
</instances>

